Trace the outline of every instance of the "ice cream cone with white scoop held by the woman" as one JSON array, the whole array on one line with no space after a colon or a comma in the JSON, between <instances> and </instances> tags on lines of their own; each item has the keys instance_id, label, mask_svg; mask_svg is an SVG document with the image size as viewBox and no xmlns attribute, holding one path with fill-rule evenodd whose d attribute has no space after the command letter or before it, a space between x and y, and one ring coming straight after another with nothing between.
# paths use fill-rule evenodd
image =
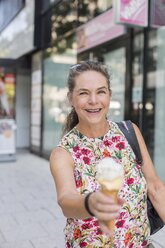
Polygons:
<instances>
[{"instance_id":1,"label":"ice cream cone with white scoop held by the woman","mask_svg":"<svg viewBox=\"0 0 165 248\"><path fill-rule=\"evenodd\" d=\"M123 168L111 158L103 159L98 165L98 181L101 191L111 196L118 203L118 192L123 184ZM107 221L107 226L114 231L115 219Z\"/></svg>"}]
</instances>

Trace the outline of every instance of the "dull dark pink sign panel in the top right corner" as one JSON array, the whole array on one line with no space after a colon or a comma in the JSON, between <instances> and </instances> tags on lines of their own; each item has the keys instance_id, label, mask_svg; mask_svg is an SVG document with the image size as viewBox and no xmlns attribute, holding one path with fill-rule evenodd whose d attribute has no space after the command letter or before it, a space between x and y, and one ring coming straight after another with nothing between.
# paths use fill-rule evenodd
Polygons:
<instances>
[{"instance_id":1,"label":"dull dark pink sign panel in the top right corner","mask_svg":"<svg viewBox=\"0 0 165 248\"><path fill-rule=\"evenodd\" d=\"M151 0L150 26L165 26L165 0Z\"/></svg>"}]
</instances>

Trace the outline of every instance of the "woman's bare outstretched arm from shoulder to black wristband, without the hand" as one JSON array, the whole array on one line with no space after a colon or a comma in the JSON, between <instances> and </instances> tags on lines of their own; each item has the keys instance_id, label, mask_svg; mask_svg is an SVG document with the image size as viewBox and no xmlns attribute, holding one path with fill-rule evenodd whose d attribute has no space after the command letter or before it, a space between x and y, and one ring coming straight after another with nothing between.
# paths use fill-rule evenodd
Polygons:
<instances>
[{"instance_id":1,"label":"woman's bare outstretched arm from shoulder to black wristband, without the hand","mask_svg":"<svg viewBox=\"0 0 165 248\"><path fill-rule=\"evenodd\" d=\"M55 148L50 156L50 169L55 181L58 204L67 218L87 218L84 197L76 190L73 159L63 148Z\"/></svg>"}]
</instances>

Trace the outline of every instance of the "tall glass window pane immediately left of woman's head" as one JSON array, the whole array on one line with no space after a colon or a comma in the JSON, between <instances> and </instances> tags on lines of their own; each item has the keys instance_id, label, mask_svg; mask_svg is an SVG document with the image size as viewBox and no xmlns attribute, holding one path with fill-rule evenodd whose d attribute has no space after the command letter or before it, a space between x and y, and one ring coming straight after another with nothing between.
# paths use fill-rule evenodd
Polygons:
<instances>
[{"instance_id":1,"label":"tall glass window pane immediately left of woman's head","mask_svg":"<svg viewBox=\"0 0 165 248\"><path fill-rule=\"evenodd\" d=\"M43 152L49 154L58 144L70 109L67 100L67 75L76 63L75 36L64 39L62 49L49 48L44 58Z\"/></svg>"}]
</instances>

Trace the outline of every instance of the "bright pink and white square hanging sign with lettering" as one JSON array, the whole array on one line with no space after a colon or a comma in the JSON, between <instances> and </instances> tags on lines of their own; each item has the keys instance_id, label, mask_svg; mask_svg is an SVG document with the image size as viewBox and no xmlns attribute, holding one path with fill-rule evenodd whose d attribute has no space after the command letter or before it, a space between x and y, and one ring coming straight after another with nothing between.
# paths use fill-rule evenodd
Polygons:
<instances>
[{"instance_id":1,"label":"bright pink and white square hanging sign with lettering","mask_svg":"<svg viewBox=\"0 0 165 248\"><path fill-rule=\"evenodd\" d=\"M146 27L148 0L114 0L116 23Z\"/></svg>"}]
</instances>

